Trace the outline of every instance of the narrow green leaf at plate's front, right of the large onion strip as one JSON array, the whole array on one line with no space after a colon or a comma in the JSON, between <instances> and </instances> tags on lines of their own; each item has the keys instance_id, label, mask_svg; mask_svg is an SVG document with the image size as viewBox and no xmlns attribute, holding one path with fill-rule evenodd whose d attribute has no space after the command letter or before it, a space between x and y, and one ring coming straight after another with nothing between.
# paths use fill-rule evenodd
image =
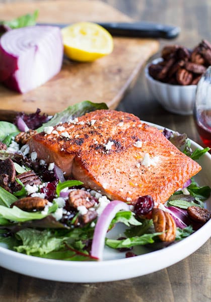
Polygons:
<instances>
[{"instance_id":1,"label":"narrow green leaf at plate's front, right of the large onion strip","mask_svg":"<svg viewBox=\"0 0 211 302\"><path fill-rule=\"evenodd\" d=\"M106 238L105 244L112 249L131 248L138 245L154 243L153 238L162 233L144 234L142 236L131 237L123 240L113 240Z\"/></svg>"}]
</instances>

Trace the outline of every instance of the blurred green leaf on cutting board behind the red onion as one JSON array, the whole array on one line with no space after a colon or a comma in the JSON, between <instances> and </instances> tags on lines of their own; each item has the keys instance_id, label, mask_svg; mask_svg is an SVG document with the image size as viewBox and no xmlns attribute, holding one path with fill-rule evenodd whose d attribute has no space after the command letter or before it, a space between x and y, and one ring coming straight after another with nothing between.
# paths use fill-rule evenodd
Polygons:
<instances>
[{"instance_id":1,"label":"blurred green leaf on cutting board behind the red onion","mask_svg":"<svg viewBox=\"0 0 211 302\"><path fill-rule=\"evenodd\" d=\"M36 24L38 17L38 10L36 10L32 15L27 14L11 21L1 21L0 24L9 26L11 29L16 29L20 27L32 26Z\"/></svg>"}]
</instances>

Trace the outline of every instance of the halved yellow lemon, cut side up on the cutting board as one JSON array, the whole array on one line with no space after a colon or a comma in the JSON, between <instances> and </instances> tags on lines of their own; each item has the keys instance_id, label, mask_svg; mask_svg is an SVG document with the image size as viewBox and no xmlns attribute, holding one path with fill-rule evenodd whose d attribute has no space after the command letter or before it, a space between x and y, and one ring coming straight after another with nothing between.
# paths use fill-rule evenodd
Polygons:
<instances>
[{"instance_id":1,"label":"halved yellow lemon, cut side up on the cutting board","mask_svg":"<svg viewBox=\"0 0 211 302\"><path fill-rule=\"evenodd\" d=\"M64 53L72 60L91 62L113 51L113 38L102 26L80 22L61 30Z\"/></svg>"}]
</instances>

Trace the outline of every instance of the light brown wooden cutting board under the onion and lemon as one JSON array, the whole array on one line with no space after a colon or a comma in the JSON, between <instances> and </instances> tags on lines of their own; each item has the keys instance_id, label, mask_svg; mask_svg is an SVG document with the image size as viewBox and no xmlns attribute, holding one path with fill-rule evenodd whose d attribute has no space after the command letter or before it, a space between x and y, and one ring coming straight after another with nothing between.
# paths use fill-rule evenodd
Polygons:
<instances>
[{"instance_id":1,"label":"light brown wooden cutting board under the onion and lemon","mask_svg":"<svg viewBox=\"0 0 211 302\"><path fill-rule=\"evenodd\" d=\"M11 20L36 9L39 10L38 22L131 21L107 4L90 0L0 4L0 20ZM154 39L115 37L112 54L92 63L64 59L59 74L29 93L21 95L0 85L0 119L11 120L16 111L29 113L37 108L54 114L84 100L105 102L114 109L158 48L159 43Z\"/></svg>"}]
</instances>

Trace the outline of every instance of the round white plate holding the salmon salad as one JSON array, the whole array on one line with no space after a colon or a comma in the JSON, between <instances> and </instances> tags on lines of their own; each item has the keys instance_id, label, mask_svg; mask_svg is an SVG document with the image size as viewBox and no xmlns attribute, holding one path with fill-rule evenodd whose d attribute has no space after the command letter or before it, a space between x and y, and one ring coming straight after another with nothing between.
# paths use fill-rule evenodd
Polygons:
<instances>
[{"instance_id":1,"label":"round white plate holding the salmon salad","mask_svg":"<svg viewBox=\"0 0 211 302\"><path fill-rule=\"evenodd\" d=\"M151 124L151 123L148 123ZM159 129L163 127L151 124ZM200 147L191 141L194 149ZM199 164L202 170L194 178L199 185L211 185L211 155L206 153ZM206 207L211 209L211 198ZM0 247L0 265L12 271L42 279L65 282L105 282L116 281L146 275L166 268L200 248L210 237L211 220L186 239L166 249L150 252L131 258L124 258L125 253L105 248L101 262L74 262L43 259L27 256ZM119 236L118 226L110 236ZM110 232L109 232L110 233ZM122 259L119 259L122 258Z\"/></svg>"}]
</instances>

